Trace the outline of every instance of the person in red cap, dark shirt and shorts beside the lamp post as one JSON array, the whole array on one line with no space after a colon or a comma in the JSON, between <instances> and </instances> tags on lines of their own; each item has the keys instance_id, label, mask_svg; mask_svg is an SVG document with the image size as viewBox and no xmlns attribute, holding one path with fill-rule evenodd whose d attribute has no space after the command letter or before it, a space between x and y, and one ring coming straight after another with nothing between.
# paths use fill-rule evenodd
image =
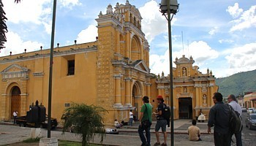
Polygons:
<instances>
[{"instance_id":1,"label":"person in red cap, dark shirt and shorts beside the lamp post","mask_svg":"<svg viewBox=\"0 0 256 146\"><path fill-rule=\"evenodd\" d=\"M157 113L154 112L154 115L157 115L157 124L155 126L155 132L156 132L156 137L157 137L157 142L154 145L160 145L160 140L159 140L159 129L162 128L162 133L164 133L164 139L165 142L162 143L162 146L166 145L166 140L167 140L167 132L166 132L166 126L167 126L167 120L162 116L164 106L164 99L162 98L161 95L157 96L157 101L158 101L158 107L157 107Z\"/></svg>"}]
</instances>

